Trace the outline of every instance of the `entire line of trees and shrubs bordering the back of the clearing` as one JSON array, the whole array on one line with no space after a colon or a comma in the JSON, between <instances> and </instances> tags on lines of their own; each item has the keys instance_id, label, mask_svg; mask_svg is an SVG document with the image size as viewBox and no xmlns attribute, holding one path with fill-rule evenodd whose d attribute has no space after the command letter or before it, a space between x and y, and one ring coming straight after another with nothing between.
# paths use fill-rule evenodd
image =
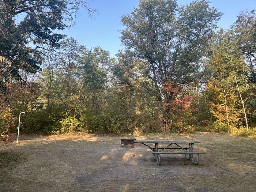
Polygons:
<instances>
[{"instance_id":1,"label":"entire line of trees and shrubs bordering the back of the clearing","mask_svg":"<svg viewBox=\"0 0 256 192\"><path fill-rule=\"evenodd\" d=\"M208 1L178 7L175 0L140 0L122 17L125 49L111 58L106 50L86 49L52 32L68 27L60 14L67 15L65 2L56 2L48 6L56 9L56 17L24 8L27 16L19 24L15 14L1 20L2 138L16 131L20 112L26 112L23 133L206 130L255 135L254 10L241 12L223 31L216 25L222 13ZM1 4L1 14L6 12L8 6ZM67 15L71 21L72 13ZM52 25L45 26L46 21Z\"/></svg>"}]
</instances>

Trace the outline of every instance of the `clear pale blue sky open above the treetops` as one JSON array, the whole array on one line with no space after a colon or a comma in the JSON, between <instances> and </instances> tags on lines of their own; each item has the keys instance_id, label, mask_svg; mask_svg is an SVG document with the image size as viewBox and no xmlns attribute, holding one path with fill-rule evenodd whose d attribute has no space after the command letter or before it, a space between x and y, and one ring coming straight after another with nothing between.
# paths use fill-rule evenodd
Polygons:
<instances>
[{"instance_id":1,"label":"clear pale blue sky open above the treetops","mask_svg":"<svg viewBox=\"0 0 256 192\"><path fill-rule=\"evenodd\" d=\"M118 31L124 29L121 16L129 14L134 7L138 6L139 1L94 0L91 2L89 0L88 2L90 7L98 10L99 14L94 19L90 19L87 12L82 9L76 19L76 26L65 29L61 33L74 37L79 44L85 45L88 49L100 46L108 50L111 57L114 57L119 49L123 49ZM191 2L192 0L178 0L178 5ZM211 5L224 13L218 26L229 29L239 12L256 8L256 0L212 0Z\"/></svg>"}]
</instances>

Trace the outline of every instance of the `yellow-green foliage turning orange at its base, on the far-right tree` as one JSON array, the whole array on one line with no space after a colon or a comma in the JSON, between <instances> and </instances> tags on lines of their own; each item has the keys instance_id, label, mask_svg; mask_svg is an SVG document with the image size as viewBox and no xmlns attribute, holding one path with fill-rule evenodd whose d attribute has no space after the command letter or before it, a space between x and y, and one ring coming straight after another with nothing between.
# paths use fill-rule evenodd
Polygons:
<instances>
[{"instance_id":1,"label":"yellow-green foliage turning orange at its base, on the far-right tree","mask_svg":"<svg viewBox=\"0 0 256 192\"><path fill-rule=\"evenodd\" d=\"M208 82L207 90L213 93L210 101L211 113L218 121L225 120L228 125L233 126L240 120L239 113L244 113L245 125L248 128L245 102L250 98L246 77L248 68L230 33L223 35L217 44L210 60L210 68L213 76Z\"/></svg>"}]
</instances>

